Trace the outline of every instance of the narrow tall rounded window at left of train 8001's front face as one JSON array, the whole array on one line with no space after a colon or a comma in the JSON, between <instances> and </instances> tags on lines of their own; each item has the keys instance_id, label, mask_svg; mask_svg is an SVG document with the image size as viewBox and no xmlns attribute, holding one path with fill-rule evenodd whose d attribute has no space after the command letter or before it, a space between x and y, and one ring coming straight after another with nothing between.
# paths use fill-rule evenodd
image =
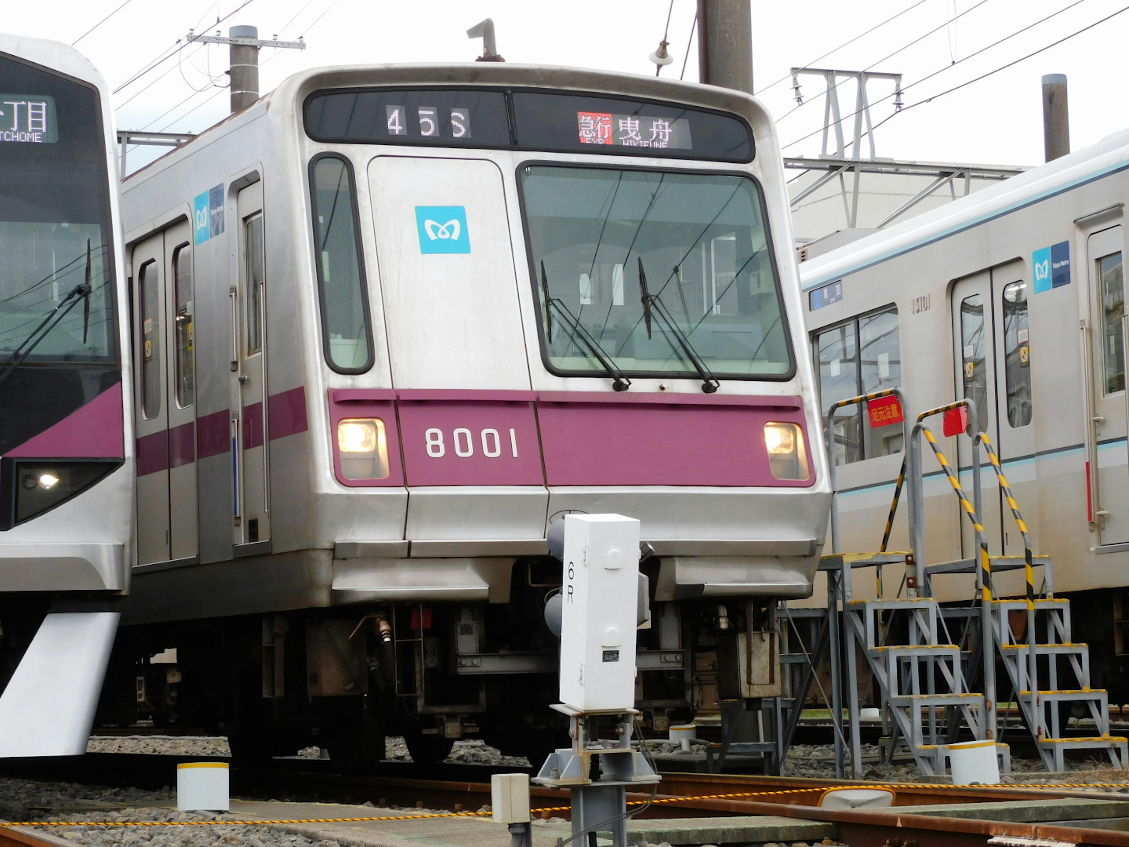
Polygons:
<instances>
[{"instance_id":1,"label":"narrow tall rounded window at left of train 8001's front face","mask_svg":"<svg viewBox=\"0 0 1129 847\"><path fill-rule=\"evenodd\" d=\"M352 169L321 156L309 174L325 359L340 374L361 374L373 366L373 342Z\"/></svg>"}]
</instances>

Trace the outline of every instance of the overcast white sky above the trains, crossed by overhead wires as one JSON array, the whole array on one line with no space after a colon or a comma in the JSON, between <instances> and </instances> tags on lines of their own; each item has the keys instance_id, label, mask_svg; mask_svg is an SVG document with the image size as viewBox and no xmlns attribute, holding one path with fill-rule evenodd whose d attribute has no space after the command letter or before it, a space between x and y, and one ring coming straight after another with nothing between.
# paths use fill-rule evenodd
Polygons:
<instances>
[{"instance_id":1,"label":"overcast white sky above the trains, crossed by overhead wires","mask_svg":"<svg viewBox=\"0 0 1129 847\"><path fill-rule=\"evenodd\" d=\"M190 28L213 32L217 18L245 5L220 25L225 35L231 25L248 24L259 27L260 37L277 34L294 41L305 36L308 44L305 51L262 51L262 90L266 91L297 70L324 64L472 60L480 52L479 42L467 40L465 30L487 16L493 18L499 52L509 61L654 75L647 54L662 37L671 9L669 0L124 1L122 7L123 0L6 0L0 26L70 43L114 12L78 44L114 89L169 52ZM781 142L789 145L822 128L824 104L822 81L809 78L804 82L805 105L788 114L796 105L790 89L793 66L902 73L903 99L912 107L877 130L878 156L1034 165L1043 158L1040 80L1044 73L1066 73L1069 79L1073 149L1129 125L1123 88L1127 1L753 0L754 84L779 121ZM685 78L698 78L697 41L688 44L694 7L694 0L673 2L668 40L675 62L663 69L664 76L679 77L689 47ZM972 55L1059 10L1045 23ZM1039 55L924 103L1122 10ZM930 30L936 32L927 35ZM114 95L119 128L200 131L211 125L227 112L227 93L215 87L226 84L226 46L187 46ZM936 71L942 72L914 85ZM788 79L776 84L782 77ZM878 101L892 90L892 84L876 80L870 98ZM840 93L843 111L850 113L854 82L843 85ZM891 99L873 106L875 122L892 112ZM785 152L816 155L820 136L790 145Z\"/></svg>"}]
</instances>

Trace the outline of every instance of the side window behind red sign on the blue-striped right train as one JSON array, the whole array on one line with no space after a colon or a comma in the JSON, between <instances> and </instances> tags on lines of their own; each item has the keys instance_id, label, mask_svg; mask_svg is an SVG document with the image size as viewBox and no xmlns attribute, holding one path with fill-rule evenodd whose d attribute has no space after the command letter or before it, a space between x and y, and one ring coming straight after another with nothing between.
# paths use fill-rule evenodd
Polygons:
<instances>
[{"instance_id":1,"label":"side window behind red sign on the blue-striped right train","mask_svg":"<svg viewBox=\"0 0 1129 847\"><path fill-rule=\"evenodd\" d=\"M898 309L887 308L816 333L820 409L824 414L840 400L901 384L898 332ZM832 438L835 465L901 452L902 424L875 426L867 405L847 407L835 413Z\"/></svg>"}]
</instances>

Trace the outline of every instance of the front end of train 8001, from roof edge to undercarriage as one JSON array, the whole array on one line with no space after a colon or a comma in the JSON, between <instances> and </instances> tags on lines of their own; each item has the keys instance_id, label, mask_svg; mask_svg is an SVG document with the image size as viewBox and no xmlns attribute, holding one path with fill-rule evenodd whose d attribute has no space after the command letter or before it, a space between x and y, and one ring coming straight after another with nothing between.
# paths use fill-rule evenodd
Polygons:
<instances>
[{"instance_id":1,"label":"front end of train 8001, from roof edge to undercarriage","mask_svg":"<svg viewBox=\"0 0 1129 847\"><path fill-rule=\"evenodd\" d=\"M830 488L761 106L514 66L294 85L332 468L316 519L333 605L394 643L413 753L546 737L545 539L568 513L641 522L654 730L780 695L776 601L811 594Z\"/></svg>"}]
</instances>

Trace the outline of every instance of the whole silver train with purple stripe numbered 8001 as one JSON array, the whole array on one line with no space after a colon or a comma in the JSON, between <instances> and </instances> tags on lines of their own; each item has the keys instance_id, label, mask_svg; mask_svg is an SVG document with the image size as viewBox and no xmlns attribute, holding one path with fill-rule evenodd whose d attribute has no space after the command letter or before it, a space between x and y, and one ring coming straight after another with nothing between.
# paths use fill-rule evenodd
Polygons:
<instances>
[{"instance_id":1,"label":"whole silver train with purple stripe numbered 8001","mask_svg":"<svg viewBox=\"0 0 1129 847\"><path fill-rule=\"evenodd\" d=\"M755 101L314 70L123 208L139 560L115 667L143 713L339 761L385 727L418 758L551 746L569 512L642 522L653 726L776 693L773 601L811 593L830 494Z\"/></svg>"}]
</instances>

